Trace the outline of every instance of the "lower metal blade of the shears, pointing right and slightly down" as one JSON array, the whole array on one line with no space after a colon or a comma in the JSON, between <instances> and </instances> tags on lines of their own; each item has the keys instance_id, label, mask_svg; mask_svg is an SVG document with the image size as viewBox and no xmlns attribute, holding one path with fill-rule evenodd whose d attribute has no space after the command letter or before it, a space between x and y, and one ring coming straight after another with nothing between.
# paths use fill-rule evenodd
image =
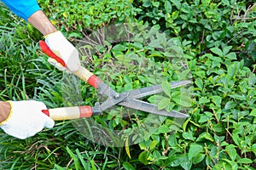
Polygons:
<instances>
[{"instance_id":1,"label":"lower metal blade of the shears, pointing right and slightly down","mask_svg":"<svg viewBox=\"0 0 256 170\"><path fill-rule=\"evenodd\" d=\"M158 110L157 105L149 104L148 102L144 102L144 101L138 100L138 99L127 99L127 100L119 103L118 105L123 105L123 106L131 108L131 109L145 111L145 112L153 113L153 114L160 115L160 116L172 116L172 117L178 117L178 118L189 117L188 115L183 114L178 111L168 112L165 110Z\"/></svg>"}]
</instances>

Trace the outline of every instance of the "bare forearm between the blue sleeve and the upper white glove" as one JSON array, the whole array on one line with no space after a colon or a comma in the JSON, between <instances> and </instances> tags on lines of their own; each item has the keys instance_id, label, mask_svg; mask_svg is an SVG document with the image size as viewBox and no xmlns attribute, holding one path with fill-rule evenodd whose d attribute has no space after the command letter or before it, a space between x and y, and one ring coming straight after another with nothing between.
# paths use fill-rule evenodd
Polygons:
<instances>
[{"instance_id":1,"label":"bare forearm between the blue sleeve and the upper white glove","mask_svg":"<svg viewBox=\"0 0 256 170\"><path fill-rule=\"evenodd\" d=\"M32 14L27 21L32 24L35 28L38 29L44 36L49 33L57 31L55 26L51 24L49 19L45 16L44 12L38 10Z\"/></svg>"}]
</instances>

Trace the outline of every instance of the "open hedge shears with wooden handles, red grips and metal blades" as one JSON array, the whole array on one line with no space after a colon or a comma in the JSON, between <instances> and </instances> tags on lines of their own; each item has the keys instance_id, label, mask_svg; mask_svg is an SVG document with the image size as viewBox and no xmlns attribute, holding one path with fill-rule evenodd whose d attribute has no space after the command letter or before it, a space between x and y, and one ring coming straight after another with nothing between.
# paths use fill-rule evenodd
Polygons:
<instances>
[{"instance_id":1,"label":"open hedge shears with wooden handles, red grips and metal blades","mask_svg":"<svg viewBox=\"0 0 256 170\"><path fill-rule=\"evenodd\" d=\"M56 56L47 46L44 41L39 42L39 47L47 54L49 57L58 61L61 65L66 66L65 62L58 56ZM84 80L92 86L96 88L98 94L105 95L108 98L102 102L96 102L94 106L84 105L84 106L73 106L73 107L61 107L55 109L44 110L44 114L50 116L53 120L69 120L69 119L78 119L83 117L90 116L98 116L101 115L103 111L106 111L108 108L113 105L122 105L127 108L144 111L160 116L171 116L171 117L179 117L186 118L188 115L178 112L171 111L168 112L166 110L158 110L157 105L150 104L141 100L143 97L152 94L158 94L163 92L161 85L154 85L147 88L138 88L135 90L131 90L124 93L117 93L112 88L110 88L106 83L102 82L99 77L96 77L93 73L85 69L82 65L79 65L79 70L73 72L77 77ZM178 88L184 85L189 84L190 81L179 81L179 82L171 82L171 88Z\"/></svg>"}]
</instances>

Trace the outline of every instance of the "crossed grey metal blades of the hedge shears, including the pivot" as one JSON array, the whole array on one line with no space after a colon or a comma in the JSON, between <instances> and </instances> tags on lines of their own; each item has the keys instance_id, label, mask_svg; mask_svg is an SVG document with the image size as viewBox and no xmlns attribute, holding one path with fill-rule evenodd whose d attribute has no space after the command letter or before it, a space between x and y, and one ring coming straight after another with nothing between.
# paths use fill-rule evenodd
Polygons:
<instances>
[{"instance_id":1,"label":"crossed grey metal blades of the hedge shears, including the pivot","mask_svg":"<svg viewBox=\"0 0 256 170\"><path fill-rule=\"evenodd\" d=\"M190 81L170 82L171 88L181 87L189 83L191 82ZM136 90L131 90L129 92L125 92L122 94L118 94L104 82L101 82L98 85L98 89L99 89L98 93L102 95L107 95L108 99L104 101L101 105L99 103L96 103L96 105L93 107L93 111L95 115L99 115L102 111L105 111L109 107L118 104L128 108L145 111L145 112L153 113L160 116L172 116L172 117L180 117L180 118L189 117L188 115L178 111L171 111L171 112L168 112L165 110L160 111L158 110L157 105L139 100L139 98L143 98L148 95L158 94L160 92L163 92L163 89L161 88L161 84L150 86L148 88L139 88Z\"/></svg>"}]
</instances>

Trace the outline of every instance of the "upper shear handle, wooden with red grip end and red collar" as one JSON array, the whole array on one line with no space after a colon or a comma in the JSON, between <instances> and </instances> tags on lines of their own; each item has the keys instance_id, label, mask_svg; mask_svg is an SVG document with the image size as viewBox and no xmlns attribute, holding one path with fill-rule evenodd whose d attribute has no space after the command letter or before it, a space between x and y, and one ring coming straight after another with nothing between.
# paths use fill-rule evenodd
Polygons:
<instances>
[{"instance_id":1,"label":"upper shear handle, wooden with red grip end and red collar","mask_svg":"<svg viewBox=\"0 0 256 170\"><path fill-rule=\"evenodd\" d=\"M58 57L56 54L54 54L46 42L44 41L39 41L39 47L41 50L44 52L44 54L47 54L50 58L55 59L58 63L63 65L64 67L67 67L65 61ZM94 88L98 88L98 85L102 82L102 80L98 77L96 77L93 73L85 69L82 65L79 65L79 70L74 71L73 74L75 74L77 77L81 78L84 80L84 82L88 82L90 86Z\"/></svg>"}]
</instances>

